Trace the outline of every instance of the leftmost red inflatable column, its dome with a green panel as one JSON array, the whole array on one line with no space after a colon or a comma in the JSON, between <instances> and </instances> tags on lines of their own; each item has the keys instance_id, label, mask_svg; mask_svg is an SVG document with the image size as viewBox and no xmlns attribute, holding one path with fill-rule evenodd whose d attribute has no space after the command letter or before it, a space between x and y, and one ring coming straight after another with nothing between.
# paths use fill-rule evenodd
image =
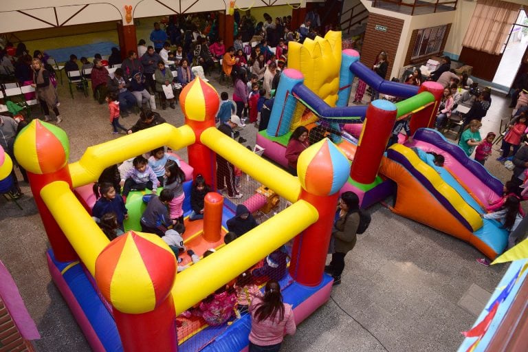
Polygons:
<instances>
[{"instance_id":1,"label":"leftmost red inflatable column, its dome with a green panel","mask_svg":"<svg viewBox=\"0 0 528 352\"><path fill-rule=\"evenodd\" d=\"M55 258L75 261L76 252L41 198L42 188L53 181L65 181L72 188L67 164L69 141L65 131L53 124L33 120L17 136L14 155L28 172L31 191Z\"/></svg>"}]
</instances>

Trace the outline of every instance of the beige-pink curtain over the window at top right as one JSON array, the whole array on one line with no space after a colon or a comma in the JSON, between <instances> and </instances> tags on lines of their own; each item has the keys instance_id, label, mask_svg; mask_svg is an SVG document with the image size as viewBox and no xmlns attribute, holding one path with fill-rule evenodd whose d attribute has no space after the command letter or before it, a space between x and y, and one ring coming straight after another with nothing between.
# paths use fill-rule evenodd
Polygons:
<instances>
[{"instance_id":1,"label":"beige-pink curtain over the window at top right","mask_svg":"<svg viewBox=\"0 0 528 352\"><path fill-rule=\"evenodd\" d=\"M499 55L520 5L499 0L478 0L462 45Z\"/></svg>"}]
</instances>

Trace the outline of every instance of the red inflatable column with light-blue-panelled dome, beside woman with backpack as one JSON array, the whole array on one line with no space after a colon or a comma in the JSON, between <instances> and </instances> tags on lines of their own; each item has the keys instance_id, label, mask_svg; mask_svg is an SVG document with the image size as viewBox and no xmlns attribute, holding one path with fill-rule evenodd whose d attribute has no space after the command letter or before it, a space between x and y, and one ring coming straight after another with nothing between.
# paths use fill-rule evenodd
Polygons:
<instances>
[{"instance_id":1,"label":"red inflatable column with light-blue-panelled dome, beside woman with backpack","mask_svg":"<svg viewBox=\"0 0 528 352\"><path fill-rule=\"evenodd\" d=\"M322 281L339 190L349 178L349 168L349 159L327 138L299 156L297 173L303 188L299 199L319 214L294 240L289 274L302 285L316 286Z\"/></svg>"}]
</instances>

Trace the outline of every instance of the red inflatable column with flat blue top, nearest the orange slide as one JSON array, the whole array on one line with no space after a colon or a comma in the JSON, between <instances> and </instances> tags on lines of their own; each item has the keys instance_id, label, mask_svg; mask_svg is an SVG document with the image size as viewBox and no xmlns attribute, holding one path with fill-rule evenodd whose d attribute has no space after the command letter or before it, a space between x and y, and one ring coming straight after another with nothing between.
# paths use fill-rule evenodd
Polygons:
<instances>
[{"instance_id":1,"label":"red inflatable column with flat blue top, nearest the orange slide","mask_svg":"<svg viewBox=\"0 0 528 352\"><path fill-rule=\"evenodd\" d=\"M395 104L388 100L374 100L369 104L350 170L354 181L360 184L374 181L395 122Z\"/></svg>"}]
</instances>

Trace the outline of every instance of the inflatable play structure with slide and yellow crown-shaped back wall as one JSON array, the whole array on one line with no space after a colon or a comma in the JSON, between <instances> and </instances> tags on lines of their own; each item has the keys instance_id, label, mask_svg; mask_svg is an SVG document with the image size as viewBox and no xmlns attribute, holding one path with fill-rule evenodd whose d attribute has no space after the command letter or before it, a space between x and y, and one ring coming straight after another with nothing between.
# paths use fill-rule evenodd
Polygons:
<instances>
[{"instance_id":1,"label":"inflatable play structure with slide and yellow crown-shaped back wall","mask_svg":"<svg viewBox=\"0 0 528 352\"><path fill-rule=\"evenodd\" d=\"M383 80L359 59L355 50L341 50L340 32L289 43L288 68L281 74L270 121L256 137L264 155L286 167L292 131L300 125L322 128L352 162L342 191L358 194L362 207L395 195L391 210L397 214L467 241L494 259L506 248L507 232L479 214L502 195L503 185L432 129L443 87L432 81L417 87ZM355 76L401 100L348 106ZM386 151L395 121L409 116L412 142ZM410 148L441 153L447 172L439 174Z\"/></svg>"}]
</instances>

